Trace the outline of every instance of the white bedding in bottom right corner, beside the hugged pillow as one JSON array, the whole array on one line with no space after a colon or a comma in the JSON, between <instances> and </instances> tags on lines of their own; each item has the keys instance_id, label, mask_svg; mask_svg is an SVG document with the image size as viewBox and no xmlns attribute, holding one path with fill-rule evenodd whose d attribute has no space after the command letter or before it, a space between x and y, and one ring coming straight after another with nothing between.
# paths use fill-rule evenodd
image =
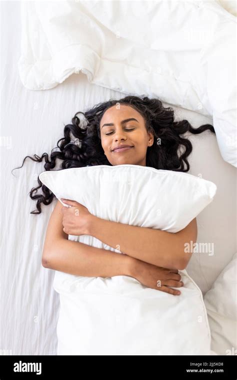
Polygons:
<instances>
[{"instance_id":1,"label":"white bedding in bottom right corner, beside the hugged pillow","mask_svg":"<svg viewBox=\"0 0 237 380\"><path fill-rule=\"evenodd\" d=\"M237 355L237 253L204 296L211 348L218 355Z\"/></svg>"}]
</instances>

